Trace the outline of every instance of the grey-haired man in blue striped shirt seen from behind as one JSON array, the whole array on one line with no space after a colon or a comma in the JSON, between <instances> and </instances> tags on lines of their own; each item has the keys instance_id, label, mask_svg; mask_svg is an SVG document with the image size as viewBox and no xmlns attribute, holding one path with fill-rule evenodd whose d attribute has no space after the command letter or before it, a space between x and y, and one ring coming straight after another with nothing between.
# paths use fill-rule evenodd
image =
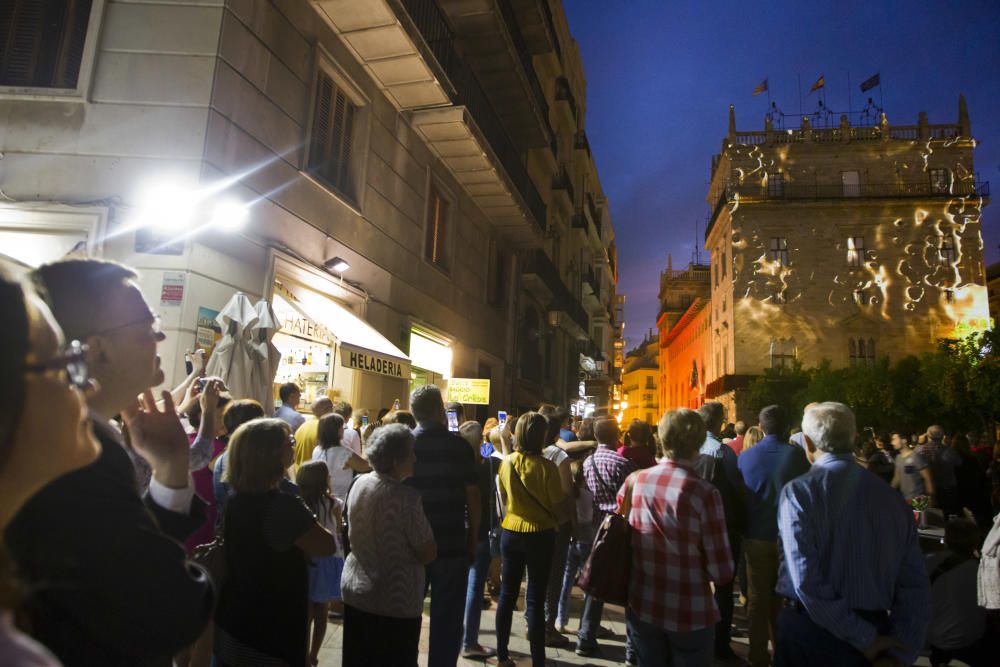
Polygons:
<instances>
[{"instance_id":1,"label":"grey-haired man in blue striped shirt seen from behind","mask_svg":"<svg viewBox=\"0 0 1000 667\"><path fill-rule=\"evenodd\" d=\"M820 403L802 420L812 469L778 505L784 561L775 667L909 665L924 643L930 587L913 515L853 457L854 414Z\"/></svg>"}]
</instances>

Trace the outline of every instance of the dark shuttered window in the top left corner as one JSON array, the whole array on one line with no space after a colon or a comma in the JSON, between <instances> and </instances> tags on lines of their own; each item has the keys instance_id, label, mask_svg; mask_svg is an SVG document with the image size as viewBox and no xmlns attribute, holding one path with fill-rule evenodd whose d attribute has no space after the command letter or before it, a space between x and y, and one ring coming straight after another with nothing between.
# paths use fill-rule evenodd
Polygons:
<instances>
[{"instance_id":1,"label":"dark shuttered window in the top left corner","mask_svg":"<svg viewBox=\"0 0 1000 667\"><path fill-rule=\"evenodd\" d=\"M0 85L76 88L92 0L0 2Z\"/></svg>"}]
</instances>

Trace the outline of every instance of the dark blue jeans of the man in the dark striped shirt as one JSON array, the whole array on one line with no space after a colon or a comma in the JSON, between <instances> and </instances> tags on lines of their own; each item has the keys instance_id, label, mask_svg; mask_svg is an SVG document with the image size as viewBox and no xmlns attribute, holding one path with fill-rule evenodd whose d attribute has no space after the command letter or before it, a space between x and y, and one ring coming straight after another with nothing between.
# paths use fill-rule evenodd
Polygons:
<instances>
[{"instance_id":1,"label":"dark blue jeans of the man in the dark striped shirt","mask_svg":"<svg viewBox=\"0 0 1000 667\"><path fill-rule=\"evenodd\" d=\"M469 577L464 556L438 558L427 566L431 589L431 629L428 667L455 667L462 650L462 595Z\"/></svg>"}]
</instances>

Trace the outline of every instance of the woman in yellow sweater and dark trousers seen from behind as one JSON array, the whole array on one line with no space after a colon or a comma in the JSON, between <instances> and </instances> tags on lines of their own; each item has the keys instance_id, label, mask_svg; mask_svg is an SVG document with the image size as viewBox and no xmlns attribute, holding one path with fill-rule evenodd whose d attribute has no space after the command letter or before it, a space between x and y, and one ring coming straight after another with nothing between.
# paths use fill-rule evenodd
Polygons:
<instances>
[{"instance_id":1,"label":"woman in yellow sweater and dark trousers seen from behind","mask_svg":"<svg viewBox=\"0 0 1000 667\"><path fill-rule=\"evenodd\" d=\"M507 652L514 603L528 569L525 617L531 643L531 664L545 664L545 591L548 586L556 528L554 508L564 493L559 469L542 456L548 422L537 412L521 415L514 430L515 451L500 466L500 500L505 515L500 527L502 588L497 605L497 660L514 662Z\"/></svg>"}]
</instances>

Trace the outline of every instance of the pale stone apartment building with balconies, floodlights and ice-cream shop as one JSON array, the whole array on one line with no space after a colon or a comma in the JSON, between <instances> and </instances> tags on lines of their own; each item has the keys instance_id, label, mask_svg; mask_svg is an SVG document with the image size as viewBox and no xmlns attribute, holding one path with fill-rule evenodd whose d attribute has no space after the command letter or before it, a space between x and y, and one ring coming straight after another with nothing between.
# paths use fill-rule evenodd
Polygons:
<instances>
[{"instance_id":1,"label":"pale stone apartment building with balconies, floodlights and ice-cream shop","mask_svg":"<svg viewBox=\"0 0 1000 667\"><path fill-rule=\"evenodd\" d=\"M484 412L566 403L581 353L611 358L614 232L558 2L7 11L7 263L136 267L168 382L235 294L278 317L278 379L372 410L450 377L491 380Z\"/></svg>"}]
</instances>

